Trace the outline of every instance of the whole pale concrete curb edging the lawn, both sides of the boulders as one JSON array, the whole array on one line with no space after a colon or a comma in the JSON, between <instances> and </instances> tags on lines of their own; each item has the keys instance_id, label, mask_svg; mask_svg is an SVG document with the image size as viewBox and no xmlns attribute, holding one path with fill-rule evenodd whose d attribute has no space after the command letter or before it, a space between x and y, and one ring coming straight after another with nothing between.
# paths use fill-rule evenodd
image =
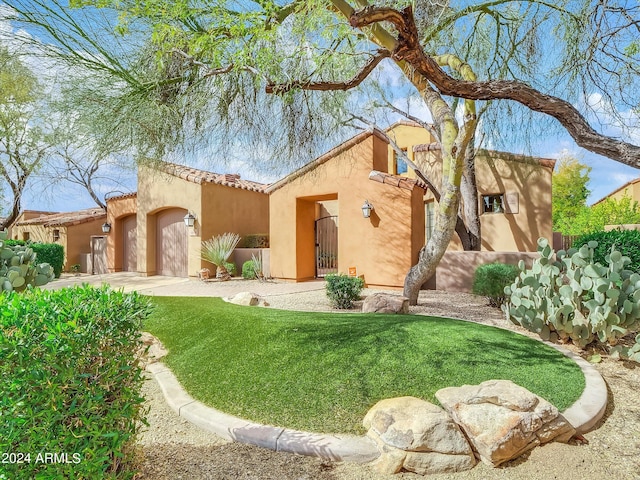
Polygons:
<instances>
[{"instance_id":1,"label":"whole pale concrete curb edging the lawn, both sides of the boulders","mask_svg":"<svg viewBox=\"0 0 640 480\"><path fill-rule=\"evenodd\" d=\"M604 415L608 399L607 385L589 362L565 348L540 341L571 358L582 370L585 389L580 398L562 412L562 415L578 433L589 431ZM167 404L174 412L194 425L227 440L333 461L368 463L380 456L375 442L368 437L302 432L252 423L228 415L194 400L163 363L150 363L147 370L160 385Z\"/></svg>"}]
</instances>

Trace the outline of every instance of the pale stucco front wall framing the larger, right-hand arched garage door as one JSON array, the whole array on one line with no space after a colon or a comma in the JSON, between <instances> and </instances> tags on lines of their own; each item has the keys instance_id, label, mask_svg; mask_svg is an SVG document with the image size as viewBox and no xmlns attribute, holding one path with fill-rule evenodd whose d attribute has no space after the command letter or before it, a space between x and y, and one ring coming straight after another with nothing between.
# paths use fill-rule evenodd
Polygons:
<instances>
[{"instance_id":1,"label":"pale stucco front wall framing the larger, right-hand arched garage door","mask_svg":"<svg viewBox=\"0 0 640 480\"><path fill-rule=\"evenodd\" d=\"M156 214L168 208L183 208L196 217L188 242L188 275L200 270L202 242L201 186L182 178L141 166L138 171L138 272L156 274Z\"/></svg>"}]
</instances>

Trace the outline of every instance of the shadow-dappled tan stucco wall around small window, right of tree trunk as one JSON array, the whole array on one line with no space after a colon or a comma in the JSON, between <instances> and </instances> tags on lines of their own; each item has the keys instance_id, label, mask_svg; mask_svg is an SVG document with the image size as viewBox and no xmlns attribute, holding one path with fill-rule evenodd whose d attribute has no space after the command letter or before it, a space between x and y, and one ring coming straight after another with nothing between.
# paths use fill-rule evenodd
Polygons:
<instances>
[{"instance_id":1,"label":"shadow-dappled tan stucco wall around small window, right of tree trunk","mask_svg":"<svg viewBox=\"0 0 640 480\"><path fill-rule=\"evenodd\" d=\"M439 154L418 152L427 175L435 185L442 180ZM482 250L497 252L534 252L539 237L552 238L552 169L535 159L503 154L489 156L480 151L476 157L478 202L483 195L517 194L518 213L485 213L480 216ZM432 199L428 193L425 199ZM482 212L482 205L480 205ZM462 250L457 235L449 251Z\"/></svg>"}]
</instances>

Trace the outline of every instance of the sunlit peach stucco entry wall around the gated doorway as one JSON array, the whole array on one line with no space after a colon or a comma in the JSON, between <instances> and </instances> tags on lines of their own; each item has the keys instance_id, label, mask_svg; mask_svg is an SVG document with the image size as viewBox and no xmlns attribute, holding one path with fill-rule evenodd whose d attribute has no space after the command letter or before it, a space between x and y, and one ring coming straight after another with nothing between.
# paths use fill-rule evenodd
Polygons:
<instances>
[{"instance_id":1,"label":"sunlit peach stucco entry wall around the gated doorway","mask_svg":"<svg viewBox=\"0 0 640 480\"><path fill-rule=\"evenodd\" d=\"M314 277L317 202L337 200L338 270L347 273L355 267L369 285L402 285L422 246L416 245L411 230L413 224L424 231L423 191L369 180L372 169L386 170L387 146L370 135L271 193L272 276ZM365 200L374 206L371 218L362 215Z\"/></svg>"}]
</instances>

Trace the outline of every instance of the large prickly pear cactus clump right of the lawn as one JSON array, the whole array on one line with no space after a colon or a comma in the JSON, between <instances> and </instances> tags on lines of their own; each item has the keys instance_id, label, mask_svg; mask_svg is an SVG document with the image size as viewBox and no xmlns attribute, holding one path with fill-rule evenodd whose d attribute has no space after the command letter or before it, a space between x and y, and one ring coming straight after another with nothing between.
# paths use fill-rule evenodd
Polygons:
<instances>
[{"instance_id":1,"label":"large prickly pear cactus clump right of the lawn","mask_svg":"<svg viewBox=\"0 0 640 480\"><path fill-rule=\"evenodd\" d=\"M517 325L544 340L572 340L584 348L593 341L614 346L629 332L640 329L640 275L612 247L606 266L594 261L597 242L580 249L560 250L554 261L549 242L538 240L540 258L531 269L520 262L521 273L505 288L509 296L503 310ZM619 349L640 361L640 353Z\"/></svg>"}]
</instances>

